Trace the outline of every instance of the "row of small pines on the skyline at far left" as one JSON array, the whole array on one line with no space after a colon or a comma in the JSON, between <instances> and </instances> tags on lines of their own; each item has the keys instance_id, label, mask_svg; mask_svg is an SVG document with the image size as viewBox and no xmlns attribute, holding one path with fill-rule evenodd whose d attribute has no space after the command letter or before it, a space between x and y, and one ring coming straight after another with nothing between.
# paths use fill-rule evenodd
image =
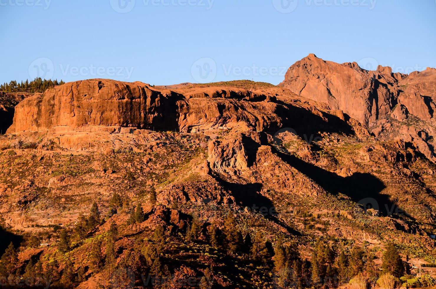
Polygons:
<instances>
[{"instance_id":1,"label":"row of small pines on the skyline at far left","mask_svg":"<svg viewBox=\"0 0 436 289\"><path fill-rule=\"evenodd\" d=\"M13 80L9 83L3 83L0 85L0 91L4 92L44 92L48 88L52 88L56 85L63 85L65 82L61 80L58 82L57 79L51 80L51 79L42 79L40 77L35 78L34 80L30 81L26 79L25 82L17 82L16 80Z\"/></svg>"}]
</instances>

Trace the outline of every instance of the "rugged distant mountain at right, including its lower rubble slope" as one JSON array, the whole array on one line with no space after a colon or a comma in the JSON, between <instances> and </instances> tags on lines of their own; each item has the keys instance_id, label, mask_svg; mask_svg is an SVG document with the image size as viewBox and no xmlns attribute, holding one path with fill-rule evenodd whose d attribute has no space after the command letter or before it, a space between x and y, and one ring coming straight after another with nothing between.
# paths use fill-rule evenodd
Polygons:
<instances>
[{"instance_id":1,"label":"rugged distant mountain at right, including its lower rubble slope","mask_svg":"<svg viewBox=\"0 0 436 289\"><path fill-rule=\"evenodd\" d=\"M414 141L422 153L436 160L431 141L436 126L435 68L410 75L392 73L392 68L380 65L376 71L367 71L356 62L338 64L309 54L289 68L279 86L343 110L375 136L384 132L385 139Z\"/></svg>"}]
</instances>

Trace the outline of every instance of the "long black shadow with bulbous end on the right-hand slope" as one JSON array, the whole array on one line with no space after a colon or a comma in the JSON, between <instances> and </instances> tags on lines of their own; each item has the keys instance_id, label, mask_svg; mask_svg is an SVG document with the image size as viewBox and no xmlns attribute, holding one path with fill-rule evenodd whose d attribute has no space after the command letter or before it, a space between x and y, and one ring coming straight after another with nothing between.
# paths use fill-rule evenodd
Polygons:
<instances>
[{"instance_id":1,"label":"long black shadow with bulbous end on the right-hand slope","mask_svg":"<svg viewBox=\"0 0 436 289\"><path fill-rule=\"evenodd\" d=\"M396 204L389 200L389 196L380 194L385 184L370 173L354 173L350 177L341 177L311 163L306 163L296 156L279 152L275 153L286 163L310 177L330 194L342 193L355 203L365 208L374 208L383 216L391 216L400 210Z\"/></svg>"}]
</instances>

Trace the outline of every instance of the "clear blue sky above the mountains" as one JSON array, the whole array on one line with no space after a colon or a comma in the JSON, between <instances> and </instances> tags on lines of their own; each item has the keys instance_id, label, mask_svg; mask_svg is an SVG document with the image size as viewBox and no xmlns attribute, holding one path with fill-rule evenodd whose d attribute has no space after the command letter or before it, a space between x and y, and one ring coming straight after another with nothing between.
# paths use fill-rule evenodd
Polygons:
<instances>
[{"instance_id":1,"label":"clear blue sky above the mountains","mask_svg":"<svg viewBox=\"0 0 436 289\"><path fill-rule=\"evenodd\" d=\"M1 83L45 73L278 84L309 53L395 71L436 67L435 0L48 1L0 0Z\"/></svg>"}]
</instances>

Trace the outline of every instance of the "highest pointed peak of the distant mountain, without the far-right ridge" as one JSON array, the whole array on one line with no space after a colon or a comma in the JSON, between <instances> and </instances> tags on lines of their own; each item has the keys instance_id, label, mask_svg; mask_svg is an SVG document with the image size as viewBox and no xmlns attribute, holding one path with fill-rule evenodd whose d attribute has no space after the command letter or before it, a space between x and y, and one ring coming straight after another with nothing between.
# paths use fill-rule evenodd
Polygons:
<instances>
[{"instance_id":1,"label":"highest pointed peak of the distant mountain, without the far-right ridge","mask_svg":"<svg viewBox=\"0 0 436 289\"><path fill-rule=\"evenodd\" d=\"M330 109L341 109L349 116L368 125L395 106L392 81L403 75L393 75L389 68L366 71L356 62L338 64L324 61L314 54L297 61L279 84L292 92L325 102Z\"/></svg>"}]
</instances>

